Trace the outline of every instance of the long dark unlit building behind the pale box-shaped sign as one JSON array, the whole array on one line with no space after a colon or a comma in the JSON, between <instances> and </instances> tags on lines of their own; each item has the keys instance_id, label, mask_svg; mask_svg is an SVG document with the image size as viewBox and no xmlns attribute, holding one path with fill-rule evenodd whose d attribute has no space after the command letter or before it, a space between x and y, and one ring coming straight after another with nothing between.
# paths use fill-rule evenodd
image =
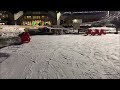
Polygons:
<instances>
[{"instance_id":1,"label":"long dark unlit building behind the pale box-shaped sign","mask_svg":"<svg viewBox=\"0 0 120 90\"><path fill-rule=\"evenodd\" d=\"M82 23L98 21L106 16L106 11L63 12L61 24L73 24L74 19L81 19Z\"/></svg>"}]
</instances>

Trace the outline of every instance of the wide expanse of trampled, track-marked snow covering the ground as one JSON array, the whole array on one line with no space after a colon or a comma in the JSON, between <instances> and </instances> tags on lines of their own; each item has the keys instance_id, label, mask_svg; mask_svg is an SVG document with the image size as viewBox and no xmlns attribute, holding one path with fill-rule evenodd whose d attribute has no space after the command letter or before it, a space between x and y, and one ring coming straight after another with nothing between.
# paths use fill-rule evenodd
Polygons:
<instances>
[{"instance_id":1,"label":"wide expanse of trampled, track-marked snow covering the ground","mask_svg":"<svg viewBox=\"0 0 120 90\"><path fill-rule=\"evenodd\" d=\"M120 35L38 35L0 49L1 79L120 79Z\"/></svg>"}]
</instances>

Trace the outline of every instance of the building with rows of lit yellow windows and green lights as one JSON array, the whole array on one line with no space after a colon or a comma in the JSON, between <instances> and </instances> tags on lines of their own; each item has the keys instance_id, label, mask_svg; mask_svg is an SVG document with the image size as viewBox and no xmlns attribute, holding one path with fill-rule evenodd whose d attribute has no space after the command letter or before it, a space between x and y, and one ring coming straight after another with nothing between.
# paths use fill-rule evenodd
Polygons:
<instances>
[{"instance_id":1,"label":"building with rows of lit yellow windows and green lights","mask_svg":"<svg viewBox=\"0 0 120 90\"><path fill-rule=\"evenodd\" d=\"M44 26L44 25L56 25L56 13L52 11L26 11L18 18L18 25L27 26Z\"/></svg>"}]
</instances>

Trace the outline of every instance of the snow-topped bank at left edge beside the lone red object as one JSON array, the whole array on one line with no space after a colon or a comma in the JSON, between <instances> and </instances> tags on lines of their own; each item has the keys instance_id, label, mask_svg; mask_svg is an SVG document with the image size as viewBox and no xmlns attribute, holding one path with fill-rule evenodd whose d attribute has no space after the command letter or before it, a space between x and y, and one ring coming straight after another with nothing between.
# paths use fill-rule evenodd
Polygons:
<instances>
[{"instance_id":1,"label":"snow-topped bank at left edge beside the lone red object","mask_svg":"<svg viewBox=\"0 0 120 90\"><path fill-rule=\"evenodd\" d=\"M0 29L0 48L3 46L20 44L21 39L18 36L19 34L25 32L25 28L21 27L2 27Z\"/></svg>"}]
</instances>

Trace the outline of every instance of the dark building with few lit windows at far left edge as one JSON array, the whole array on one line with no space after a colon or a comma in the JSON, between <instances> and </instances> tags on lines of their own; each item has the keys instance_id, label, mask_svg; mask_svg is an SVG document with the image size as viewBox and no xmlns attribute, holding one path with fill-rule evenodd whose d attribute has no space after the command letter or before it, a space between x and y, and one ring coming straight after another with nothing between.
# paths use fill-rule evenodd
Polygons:
<instances>
[{"instance_id":1,"label":"dark building with few lit windows at far left edge","mask_svg":"<svg viewBox=\"0 0 120 90\"><path fill-rule=\"evenodd\" d=\"M1 25L13 25L14 16L9 11L0 11L0 24Z\"/></svg>"}]
</instances>

